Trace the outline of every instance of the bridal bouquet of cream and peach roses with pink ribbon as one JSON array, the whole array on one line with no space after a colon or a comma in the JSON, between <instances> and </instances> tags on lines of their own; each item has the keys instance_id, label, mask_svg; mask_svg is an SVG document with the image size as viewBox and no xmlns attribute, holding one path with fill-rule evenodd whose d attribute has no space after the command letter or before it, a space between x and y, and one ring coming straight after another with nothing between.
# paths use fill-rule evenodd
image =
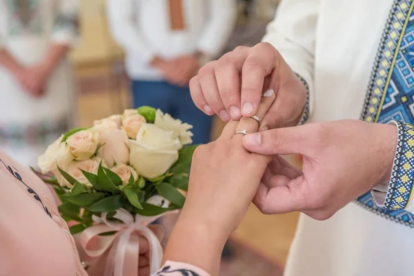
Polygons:
<instances>
[{"instance_id":1,"label":"bridal bouquet of cream and peach roses with pink ribbon","mask_svg":"<svg viewBox=\"0 0 414 276\"><path fill-rule=\"evenodd\" d=\"M138 275L137 235L150 242L151 273L159 268L161 244L148 225L184 205L191 128L142 106L70 130L39 157L41 177L61 199L61 216L76 221L70 232L79 233L90 265L105 258L101 275Z\"/></svg>"}]
</instances>

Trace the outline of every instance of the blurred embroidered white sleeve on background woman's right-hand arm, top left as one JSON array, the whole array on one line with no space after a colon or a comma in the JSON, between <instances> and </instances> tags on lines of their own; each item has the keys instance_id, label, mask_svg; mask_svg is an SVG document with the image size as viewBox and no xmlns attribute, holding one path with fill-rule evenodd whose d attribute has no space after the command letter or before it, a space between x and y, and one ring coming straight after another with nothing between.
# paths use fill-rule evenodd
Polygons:
<instances>
[{"instance_id":1,"label":"blurred embroidered white sleeve on background woman's right-hand arm, top left","mask_svg":"<svg viewBox=\"0 0 414 276\"><path fill-rule=\"evenodd\" d=\"M52 40L73 44L79 39L79 0L60 0L55 14Z\"/></svg>"}]
</instances>

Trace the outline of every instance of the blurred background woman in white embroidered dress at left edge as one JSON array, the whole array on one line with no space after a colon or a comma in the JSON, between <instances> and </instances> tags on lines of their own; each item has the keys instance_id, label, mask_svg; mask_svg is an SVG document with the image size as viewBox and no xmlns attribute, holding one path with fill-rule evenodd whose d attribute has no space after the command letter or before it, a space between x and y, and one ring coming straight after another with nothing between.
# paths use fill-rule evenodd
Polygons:
<instances>
[{"instance_id":1,"label":"blurred background woman in white embroidered dress at left edge","mask_svg":"<svg viewBox=\"0 0 414 276\"><path fill-rule=\"evenodd\" d=\"M26 166L75 114L66 53L78 34L77 0L0 1L0 148Z\"/></svg>"}]
</instances>

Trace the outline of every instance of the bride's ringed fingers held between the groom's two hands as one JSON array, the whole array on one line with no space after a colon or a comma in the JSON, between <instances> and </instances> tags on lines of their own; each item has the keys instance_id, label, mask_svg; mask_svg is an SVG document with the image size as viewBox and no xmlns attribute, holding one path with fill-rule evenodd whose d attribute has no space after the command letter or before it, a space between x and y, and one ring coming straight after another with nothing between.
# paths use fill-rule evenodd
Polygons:
<instances>
[{"instance_id":1,"label":"bride's ringed fingers held between the groom's two hands","mask_svg":"<svg viewBox=\"0 0 414 276\"><path fill-rule=\"evenodd\" d=\"M262 100L259 104L259 110L257 110L256 116L259 118L259 120L262 120L264 118L264 115L266 115L266 112L272 106L273 101L275 101L275 92L273 90L268 90L264 93ZM254 133L257 132L257 129L259 129L259 122L253 119L252 117L243 117L240 119L239 124L237 124L235 128L235 132L246 130L247 133ZM239 139L242 141L243 135L235 135L233 139Z\"/></svg>"}]
</instances>

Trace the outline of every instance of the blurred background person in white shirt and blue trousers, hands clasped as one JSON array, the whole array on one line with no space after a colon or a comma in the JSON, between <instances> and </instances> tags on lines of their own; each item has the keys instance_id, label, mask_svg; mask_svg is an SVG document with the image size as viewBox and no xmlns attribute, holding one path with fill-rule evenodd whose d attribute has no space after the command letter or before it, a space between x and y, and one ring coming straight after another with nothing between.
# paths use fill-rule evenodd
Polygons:
<instances>
[{"instance_id":1,"label":"blurred background person in white shirt and blue trousers, hands clasped","mask_svg":"<svg viewBox=\"0 0 414 276\"><path fill-rule=\"evenodd\" d=\"M195 144L207 143L212 118L197 110L188 82L226 46L236 2L108 0L107 10L110 31L126 52L135 108L160 108L194 126ZM230 115L223 110L220 117Z\"/></svg>"}]
</instances>

